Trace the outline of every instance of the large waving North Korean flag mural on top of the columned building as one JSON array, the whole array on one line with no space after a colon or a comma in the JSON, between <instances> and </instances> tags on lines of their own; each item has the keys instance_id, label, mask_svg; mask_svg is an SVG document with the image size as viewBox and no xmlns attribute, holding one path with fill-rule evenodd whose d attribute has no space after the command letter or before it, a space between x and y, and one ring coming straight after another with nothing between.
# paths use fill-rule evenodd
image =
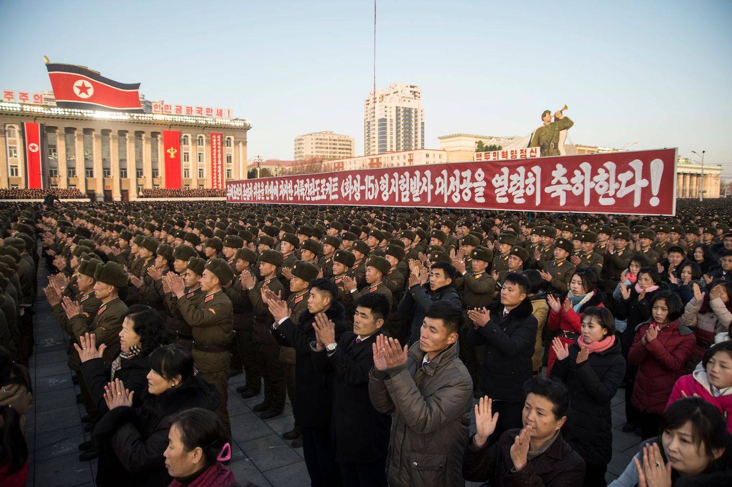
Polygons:
<instances>
[{"instance_id":1,"label":"large waving North Korean flag mural on top of the columned building","mask_svg":"<svg viewBox=\"0 0 732 487\"><path fill-rule=\"evenodd\" d=\"M140 83L119 83L74 64L46 64L56 105L81 110L142 113Z\"/></svg>"}]
</instances>

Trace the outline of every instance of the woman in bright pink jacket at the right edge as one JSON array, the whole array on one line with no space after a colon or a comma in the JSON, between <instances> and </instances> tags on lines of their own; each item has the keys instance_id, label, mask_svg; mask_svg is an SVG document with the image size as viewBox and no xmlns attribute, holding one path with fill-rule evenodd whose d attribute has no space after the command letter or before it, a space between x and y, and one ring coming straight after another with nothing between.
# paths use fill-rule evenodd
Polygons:
<instances>
[{"instance_id":1,"label":"woman in bright pink jacket at the right edge","mask_svg":"<svg viewBox=\"0 0 732 487\"><path fill-rule=\"evenodd\" d=\"M727 430L732 433L732 341L712 345L701 365L693 373L679 377L666 409L677 399L698 395L724 414Z\"/></svg>"}]
</instances>

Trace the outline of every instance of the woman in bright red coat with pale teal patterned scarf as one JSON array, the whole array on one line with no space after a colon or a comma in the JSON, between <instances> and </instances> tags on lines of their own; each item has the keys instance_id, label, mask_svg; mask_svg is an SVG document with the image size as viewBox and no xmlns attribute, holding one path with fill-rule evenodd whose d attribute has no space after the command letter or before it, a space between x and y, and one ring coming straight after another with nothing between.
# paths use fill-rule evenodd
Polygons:
<instances>
[{"instance_id":1,"label":"woman in bright red coat with pale teal patterned scarf","mask_svg":"<svg viewBox=\"0 0 732 487\"><path fill-rule=\"evenodd\" d=\"M597 287L597 273L592 269L577 269L569 282L569 291L557 299L547 296L550 313L547 325L550 330L559 330L557 337L568 346L575 343L582 331L582 315L591 306L603 307L604 294ZM549 349L547 376L556 360L556 352Z\"/></svg>"}]
</instances>

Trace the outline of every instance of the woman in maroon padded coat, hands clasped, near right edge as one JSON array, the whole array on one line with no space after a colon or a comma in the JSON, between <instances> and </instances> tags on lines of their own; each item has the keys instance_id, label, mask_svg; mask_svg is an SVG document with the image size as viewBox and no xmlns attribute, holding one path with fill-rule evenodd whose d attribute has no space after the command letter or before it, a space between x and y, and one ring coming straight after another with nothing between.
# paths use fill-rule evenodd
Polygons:
<instances>
[{"instance_id":1,"label":"woman in maroon padded coat, hands clasped, near right edge","mask_svg":"<svg viewBox=\"0 0 732 487\"><path fill-rule=\"evenodd\" d=\"M658 423L673 384L684 375L684 365L696 339L679 323L684 303L673 291L661 291L651 303L651 319L635 330L628 360L638 365L632 406L641 412L641 439L658 434Z\"/></svg>"}]
</instances>

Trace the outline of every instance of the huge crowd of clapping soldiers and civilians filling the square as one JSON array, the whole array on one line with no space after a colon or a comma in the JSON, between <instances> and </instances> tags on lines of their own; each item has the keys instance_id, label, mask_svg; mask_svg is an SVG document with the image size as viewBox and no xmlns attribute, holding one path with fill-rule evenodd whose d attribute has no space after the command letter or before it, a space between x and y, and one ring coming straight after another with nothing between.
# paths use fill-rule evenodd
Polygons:
<instances>
[{"instance_id":1,"label":"huge crowd of clapping soldiers and civilians filling the square","mask_svg":"<svg viewBox=\"0 0 732 487\"><path fill-rule=\"evenodd\" d=\"M239 373L262 419L289 398L313 486L605 486L620 389L641 448L610 485L730 485L732 208L677 211L4 204L0 483L40 264L98 486L244 485Z\"/></svg>"}]
</instances>

